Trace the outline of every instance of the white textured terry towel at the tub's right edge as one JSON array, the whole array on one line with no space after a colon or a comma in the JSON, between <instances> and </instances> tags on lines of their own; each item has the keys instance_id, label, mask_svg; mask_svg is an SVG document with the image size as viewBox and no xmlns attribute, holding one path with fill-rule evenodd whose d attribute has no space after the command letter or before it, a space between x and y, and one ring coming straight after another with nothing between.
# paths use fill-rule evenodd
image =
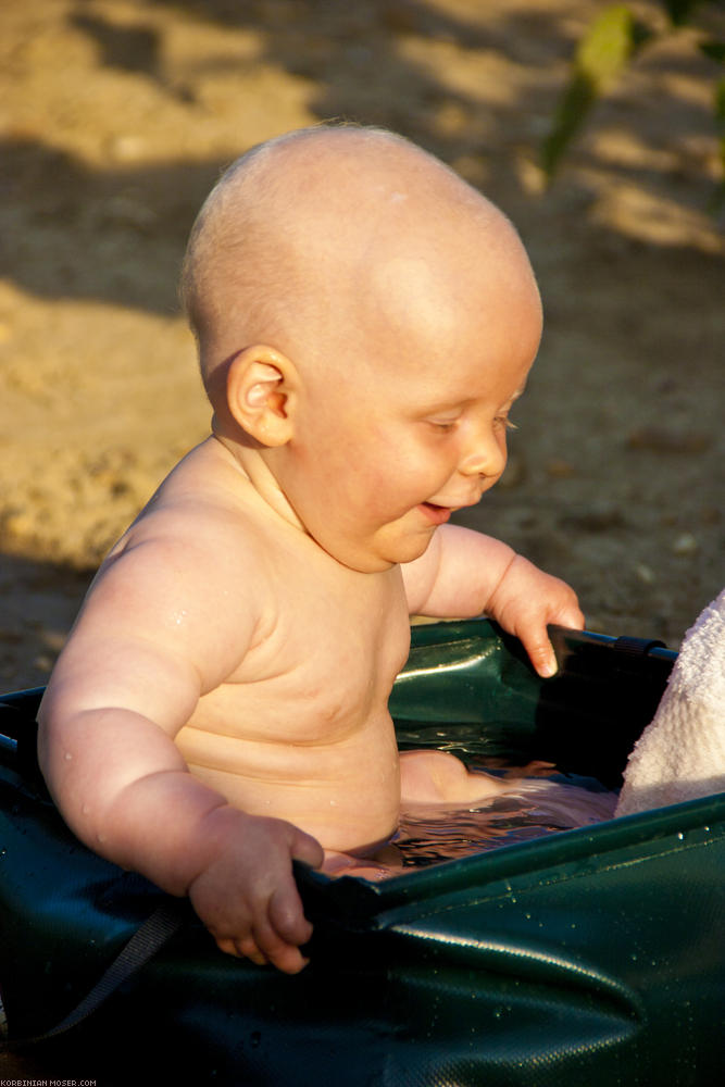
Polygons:
<instances>
[{"instance_id":1,"label":"white textured terry towel at the tub's right edge","mask_svg":"<svg viewBox=\"0 0 725 1087\"><path fill-rule=\"evenodd\" d=\"M654 719L629 755L615 815L725 791L725 589L683 641Z\"/></svg>"}]
</instances>

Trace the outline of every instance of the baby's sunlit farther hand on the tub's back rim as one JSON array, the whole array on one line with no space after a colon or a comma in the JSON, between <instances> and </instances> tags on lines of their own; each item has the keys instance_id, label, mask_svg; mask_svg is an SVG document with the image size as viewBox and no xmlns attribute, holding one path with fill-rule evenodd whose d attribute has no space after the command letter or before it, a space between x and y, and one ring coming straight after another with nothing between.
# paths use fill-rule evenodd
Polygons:
<instances>
[{"instance_id":1,"label":"baby's sunlit farther hand on the tub's back rim","mask_svg":"<svg viewBox=\"0 0 725 1087\"><path fill-rule=\"evenodd\" d=\"M557 672L557 658L547 633L548 623L580 630L584 615L576 594L565 582L517 554L488 601L486 612L524 645L540 676Z\"/></svg>"}]
</instances>

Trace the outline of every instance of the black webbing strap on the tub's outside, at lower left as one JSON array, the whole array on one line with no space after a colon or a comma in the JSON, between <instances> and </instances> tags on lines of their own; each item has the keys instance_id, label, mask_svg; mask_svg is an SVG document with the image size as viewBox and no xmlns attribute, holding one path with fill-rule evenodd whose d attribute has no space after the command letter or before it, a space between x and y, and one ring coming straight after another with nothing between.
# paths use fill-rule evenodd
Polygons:
<instances>
[{"instance_id":1,"label":"black webbing strap on the tub's outside, at lower left","mask_svg":"<svg viewBox=\"0 0 725 1087\"><path fill-rule=\"evenodd\" d=\"M184 900L171 899L160 905L150 917L143 922L128 942L122 948L105 973L98 979L73 1011L55 1026L33 1038L11 1039L12 1048L35 1046L40 1041L49 1041L61 1034L73 1029L85 1019L97 1011L115 990L128 980L137 971L145 966L161 948L168 942L189 921L189 905Z\"/></svg>"}]
</instances>

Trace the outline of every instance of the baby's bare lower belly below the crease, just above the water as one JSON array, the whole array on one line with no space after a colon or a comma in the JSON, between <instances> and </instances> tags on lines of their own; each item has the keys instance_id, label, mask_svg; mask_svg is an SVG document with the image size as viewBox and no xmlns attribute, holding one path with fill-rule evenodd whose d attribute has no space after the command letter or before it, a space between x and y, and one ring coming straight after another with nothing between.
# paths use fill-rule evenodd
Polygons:
<instances>
[{"instance_id":1,"label":"baby's bare lower belly below the crease, just above the water","mask_svg":"<svg viewBox=\"0 0 725 1087\"><path fill-rule=\"evenodd\" d=\"M260 742L195 724L176 744L191 773L235 808L287 820L325 849L365 854L398 825L400 771L387 712L328 742Z\"/></svg>"}]
</instances>

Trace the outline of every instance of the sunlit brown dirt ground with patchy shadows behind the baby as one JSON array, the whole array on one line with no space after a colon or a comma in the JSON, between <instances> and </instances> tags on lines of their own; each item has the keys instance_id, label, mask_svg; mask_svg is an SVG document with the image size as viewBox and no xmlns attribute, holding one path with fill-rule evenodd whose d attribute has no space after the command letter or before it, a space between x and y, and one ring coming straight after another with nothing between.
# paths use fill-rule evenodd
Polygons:
<instances>
[{"instance_id":1,"label":"sunlit brown dirt ground with patchy shadows behind the baby","mask_svg":"<svg viewBox=\"0 0 725 1087\"><path fill-rule=\"evenodd\" d=\"M467 523L575 585L591 629L678 645L725 582L716 70L689 32L642 54L543 190L537 147L600 8L2 4L1 689L45 680L95 565L205 434L176 301L201 200L252 143L329 117L450 162L539 276L510 466Z\"/></svg>"}]
</instances>

